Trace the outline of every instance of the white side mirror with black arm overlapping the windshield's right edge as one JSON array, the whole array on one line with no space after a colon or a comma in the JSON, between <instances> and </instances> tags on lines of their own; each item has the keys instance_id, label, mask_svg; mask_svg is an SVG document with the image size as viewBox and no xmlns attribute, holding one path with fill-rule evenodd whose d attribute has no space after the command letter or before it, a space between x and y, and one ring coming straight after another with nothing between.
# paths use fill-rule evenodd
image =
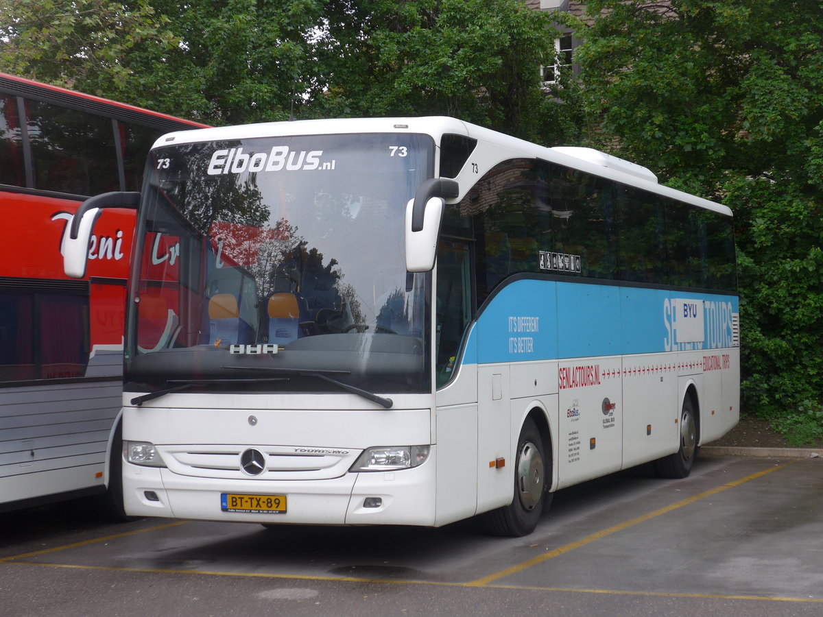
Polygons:
<instances>
[{"instance_id":1,"label":"white side mirror with black arm overlapping the windshield's right edge","mask_svg":"<svg viewBox=\"0 0 823 617\"><path fill-rule=\"evenodd\" d=\"M443 220L445 197L458 197L454 180L432 178L417 189L406 206L406 270L428 272L435 267L437 239Z\"/></svg>"}]
</instances>

